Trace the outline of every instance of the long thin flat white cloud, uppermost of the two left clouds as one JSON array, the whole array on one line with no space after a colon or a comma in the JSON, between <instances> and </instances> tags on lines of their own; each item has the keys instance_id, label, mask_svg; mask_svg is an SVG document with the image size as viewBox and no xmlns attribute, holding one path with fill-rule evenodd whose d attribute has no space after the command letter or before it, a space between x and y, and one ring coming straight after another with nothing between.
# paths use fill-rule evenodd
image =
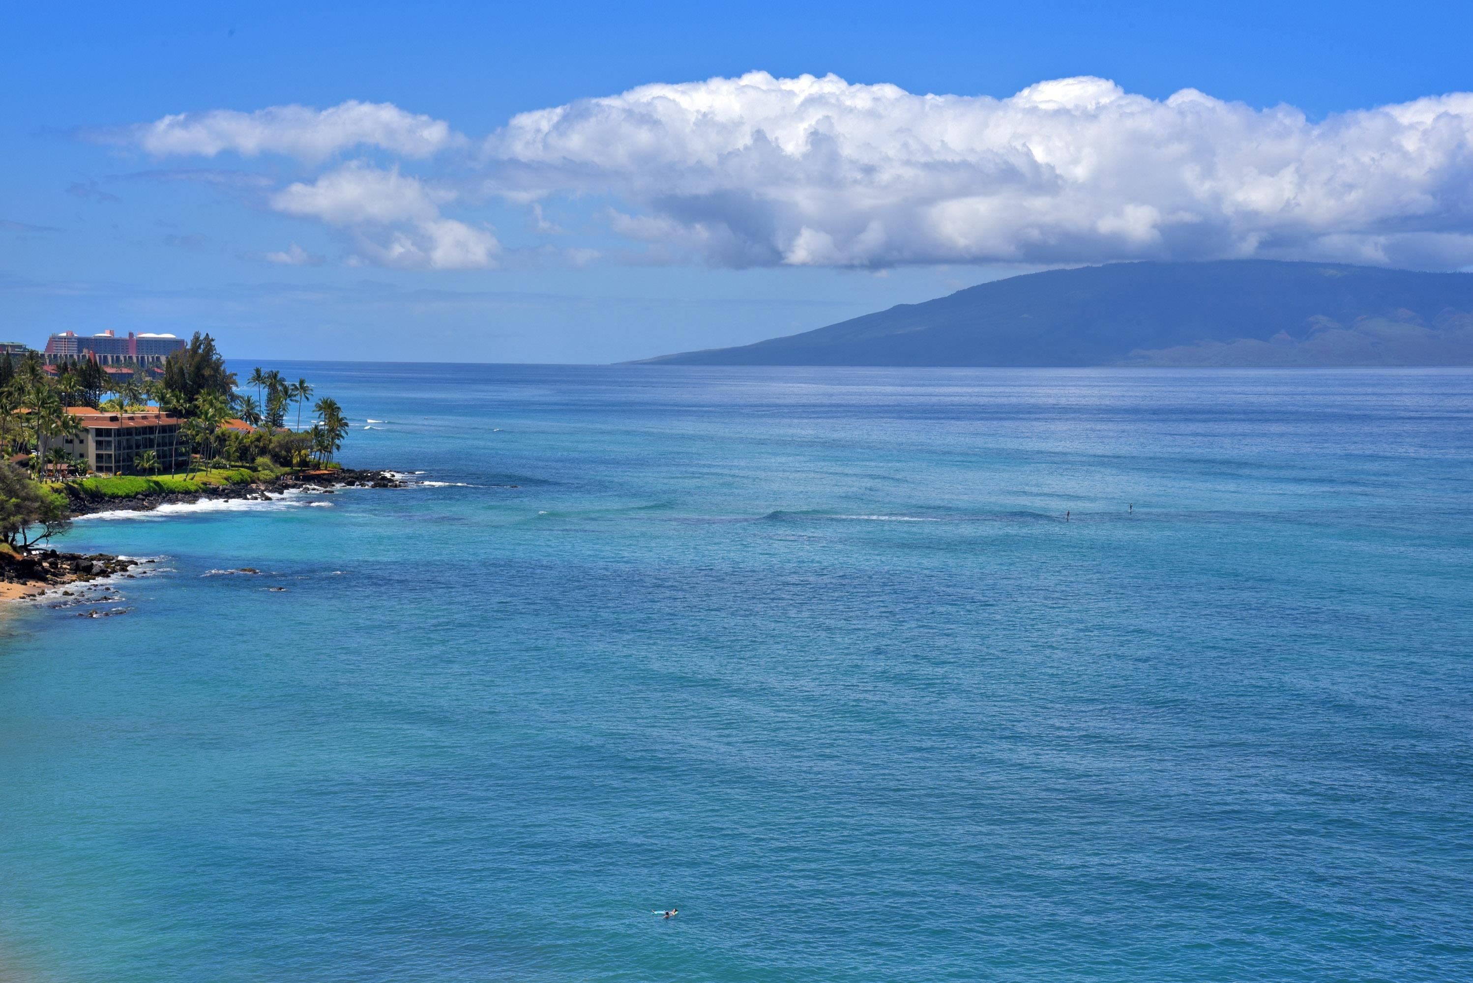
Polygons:
<instances>
[{"instance_id":1,"label":"long thin flat white cloud, uppermost of the two left clouds","mask_svg":"<svg viewBox=\"0 0 1473 983\"><path fill-rule=\"evenodd\" d=\"M392 103L349 100L328 109L270 106L243 113L212 109L175 113L149 124L108 134L155 156L214 157L233 150L247 157L280 153L323 160L356 146L374 146L404 157L429 157L463 143L449 124L408 113Z\"/></svg>"}]
</instances>

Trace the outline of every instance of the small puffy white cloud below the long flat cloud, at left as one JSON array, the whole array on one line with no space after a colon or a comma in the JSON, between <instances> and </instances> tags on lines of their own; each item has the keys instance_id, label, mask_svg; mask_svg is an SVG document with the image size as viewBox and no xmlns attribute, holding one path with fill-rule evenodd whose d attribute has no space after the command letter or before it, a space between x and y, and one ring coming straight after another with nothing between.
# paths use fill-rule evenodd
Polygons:
<instances>
[{"instance_id":1,"label":"small puffy white cloud below the long flat cloud, at left","mask_svg":"<svg viewBox=\"0 0 1473 983\"><path fill-rule=\"evenodd\" d=\"M348 230L358 256L404 269L483 269L501 246L486 230L440 215L452 191L418 178L351 162L311 184L290 184L271 196L277 212L314 218Z\"/></svg>"}]
</instances>

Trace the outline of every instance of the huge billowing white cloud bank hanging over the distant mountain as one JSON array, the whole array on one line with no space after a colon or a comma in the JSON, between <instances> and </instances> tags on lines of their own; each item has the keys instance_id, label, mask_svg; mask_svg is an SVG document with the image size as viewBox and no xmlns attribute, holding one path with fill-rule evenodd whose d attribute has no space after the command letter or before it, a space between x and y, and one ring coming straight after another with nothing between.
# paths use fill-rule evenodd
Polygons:
<instances>
[{"instance_id":1,"label":"huge billowing white cloud bank hanging over the distant mountain","mask_svg":"<svg viewBox=\"0 0 1473 983\"><path fill-rule=\"evenodd\" d=\"M514 116L510 200L607 196L613 230L719 265L1230 256L1473 263L1473 94L1312 122L1100 78L1008 99L753 72Z\"/></svg>"}]
</instances>

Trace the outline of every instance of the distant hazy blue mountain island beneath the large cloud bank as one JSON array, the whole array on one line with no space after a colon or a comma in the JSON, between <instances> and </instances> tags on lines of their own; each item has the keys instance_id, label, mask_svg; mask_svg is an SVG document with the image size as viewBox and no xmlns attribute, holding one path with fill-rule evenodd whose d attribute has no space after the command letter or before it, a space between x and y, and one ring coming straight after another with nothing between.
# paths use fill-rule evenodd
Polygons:
<instances>
[{"instance_id":1,"label":"distant hazy blue mountain island beneath the large cloud bank","mask_svg":"<svg viewBox=\"0 0 1473 983\"><path fill-rule=\"evenodd\" d=\"M1473 274L1261 259L1012 277L666 365L1473 365Z\"/></svg>"}]
</instances>

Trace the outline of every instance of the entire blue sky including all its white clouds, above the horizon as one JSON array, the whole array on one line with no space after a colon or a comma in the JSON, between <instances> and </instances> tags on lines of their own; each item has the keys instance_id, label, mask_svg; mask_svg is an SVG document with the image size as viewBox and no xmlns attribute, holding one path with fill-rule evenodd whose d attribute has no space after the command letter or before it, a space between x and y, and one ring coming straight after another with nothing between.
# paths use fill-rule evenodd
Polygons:
<instances>
[{"instance_id":1,"label":"entire blue sky including all its white clouds, above the horizon","mask_svg":"<svg viewBox=\"0 0 1473 983\"><path fill-rule=\"evenodd\" d=\"M1049 265L1473 265L1466 4L306 7L7 12L0 340L608 362Z\"/></svg>"}]
</instances>

